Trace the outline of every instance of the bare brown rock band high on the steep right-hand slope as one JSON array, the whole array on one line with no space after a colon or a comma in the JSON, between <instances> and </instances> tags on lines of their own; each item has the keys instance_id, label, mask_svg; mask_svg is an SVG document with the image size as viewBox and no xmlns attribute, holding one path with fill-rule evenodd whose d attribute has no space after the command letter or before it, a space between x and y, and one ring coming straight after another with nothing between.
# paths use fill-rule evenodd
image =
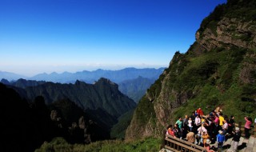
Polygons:
<instances>
[{"instance_id":1,"label":"bare brown rock band high on the steep right-hand slope","mask_svg":"<svg viewBox=\"0 0 256 152\"><path fill-rule=\"evenodd\" d=\"M239 18L222 18L216 29L206 28L196 33L197 42L204 50L213 50L223 44L253 49L256 47L256 25L254 21L244 22ZM202 37L202 38L200 38Z\"/></svg>"}]
</instances>

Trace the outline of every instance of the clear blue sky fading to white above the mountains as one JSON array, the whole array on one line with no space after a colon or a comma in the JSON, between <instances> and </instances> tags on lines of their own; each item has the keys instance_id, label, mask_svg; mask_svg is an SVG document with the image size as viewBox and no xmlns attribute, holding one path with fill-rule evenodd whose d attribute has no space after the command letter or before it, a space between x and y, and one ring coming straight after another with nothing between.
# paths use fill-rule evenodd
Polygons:
<instances>
[{"instance_id":1,"label":"clear blue sky fading to white above the mountains","mask_svg":"<svg viewBox=\"0 0 256 152\"><path fill-rule=\"evenodd\" d=\"M226 0L0 0L0 70L167 67Z\"/></svg>"}]
</instances>

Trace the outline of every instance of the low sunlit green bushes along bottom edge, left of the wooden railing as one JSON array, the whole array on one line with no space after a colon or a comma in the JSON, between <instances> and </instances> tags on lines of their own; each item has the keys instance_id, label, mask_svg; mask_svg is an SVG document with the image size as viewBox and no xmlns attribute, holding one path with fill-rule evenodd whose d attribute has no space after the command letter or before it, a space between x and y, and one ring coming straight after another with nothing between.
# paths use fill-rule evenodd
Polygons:
<instances>
[{"instance_id":1,"label":"low sunlit green bushes along bottom edge, left of the wooden railing","mask_svg":"<svg viewBox=\"0 0 256 152\"><path fill-rule=\"evenodd\" d=\"M160 149L161 139L145 138L133 142L122 140L99 141L89 145L70 145L63 138L54 138L51 142L45 142L35 152L65 151L65 152L155 152Z\"/></svg>"}]
</instances>

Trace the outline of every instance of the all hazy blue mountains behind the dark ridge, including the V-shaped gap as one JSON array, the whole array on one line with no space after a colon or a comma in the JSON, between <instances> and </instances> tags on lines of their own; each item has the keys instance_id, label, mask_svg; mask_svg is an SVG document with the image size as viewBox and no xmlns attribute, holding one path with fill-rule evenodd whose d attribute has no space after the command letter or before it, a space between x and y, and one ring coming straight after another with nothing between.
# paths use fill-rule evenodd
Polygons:
<instances>
[{"instance_id":1,"label":"all hazy blue mountains behind the dark ridge, including the V-shaped gap","mask_svg":"<svg viewBox=\"0 0 256 152\"><path fill-rule=\"evenodd\" d=\"M158 79L165 68L126 68L123 70L94 70L76 73L64 72L62 74L37 74L27 78L22 75L0 71L1 82L6 85L16 86L25 89L27 86L38 86L46 82L74 83L80 82L94 83L100 78L110 79L111 82L118 84L118 89L122 94L138 102L146 93L146 90Z\"/></svg>"}]
</instances>

